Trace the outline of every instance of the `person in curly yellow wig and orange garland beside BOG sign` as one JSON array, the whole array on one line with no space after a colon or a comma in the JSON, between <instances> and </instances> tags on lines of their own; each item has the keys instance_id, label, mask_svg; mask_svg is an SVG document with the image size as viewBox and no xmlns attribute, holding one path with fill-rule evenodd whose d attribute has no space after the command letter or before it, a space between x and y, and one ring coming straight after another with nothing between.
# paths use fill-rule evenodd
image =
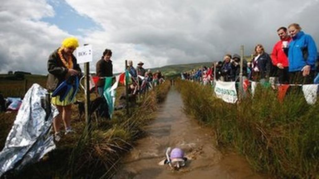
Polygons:
<instances>
[{"instance_id":1,"label":"person in curly yellow wig and orange garland beside BOG sign","mask_svg":"<svg viewBox=\"0 0 319 179\"><path fill-rule=\"evenodd\" d=\"M49 92L53 92L59 84L64 80L74 75L81 75L81 68L77 64L77 59L73 55L74 50L78 47L78 39L74 37L66 38L63 40L61 47L56 49L48 60L48 81L47 89ZM63 101L60 101L60 96L52 97L51 103L56 105L60 114L53 120L53 128L55 132L55 139L59 141L61 139L61 122L63 121L65 134L72 132L71 123L71 105L75 102L75 99L70 101L69 96Z\"/></svg>"}]
</instances>

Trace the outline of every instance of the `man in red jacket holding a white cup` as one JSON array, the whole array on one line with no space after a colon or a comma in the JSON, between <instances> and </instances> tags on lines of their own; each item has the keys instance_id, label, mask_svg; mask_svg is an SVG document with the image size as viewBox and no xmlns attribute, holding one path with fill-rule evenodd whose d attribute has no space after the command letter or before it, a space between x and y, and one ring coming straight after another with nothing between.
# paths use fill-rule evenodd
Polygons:
<instances>
[{"instance_id":1,"label":"man in red jacket holding a white cup","mask_svg":"<svg viewBox=\"0 0 319 179\"><path fill-rule=\"evenodd\" d=\"M277 30L280 40L275 44L271 60L272 63L278 67L278 81L281 84L289 83L289 72L288 72L288 58L284 52L284 48L288 47L291 37L288 35L286 27L279 27Z\"/></svg>"}]
</instances>

